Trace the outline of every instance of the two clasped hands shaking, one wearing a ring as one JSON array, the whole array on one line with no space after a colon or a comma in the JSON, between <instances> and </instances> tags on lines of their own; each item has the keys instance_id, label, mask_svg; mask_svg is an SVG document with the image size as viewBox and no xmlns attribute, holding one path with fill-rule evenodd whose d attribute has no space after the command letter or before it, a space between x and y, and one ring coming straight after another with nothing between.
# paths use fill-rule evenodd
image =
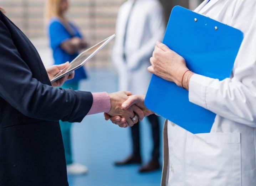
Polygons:
<instances>
[{"instance_id":1,"label":"two clasped hands shaking, one wearing a ring","mask_svg":"<svg viewBox=\"0 0 256 186\"><path fill-rule=\"evenodd\" d=\"M111 109L104 113L105 119L119 127L132 127L138 120L154 114L144 104L144 95L132 95L129 91L119 91L109 94Z\"/></svg>"}]
</instances>

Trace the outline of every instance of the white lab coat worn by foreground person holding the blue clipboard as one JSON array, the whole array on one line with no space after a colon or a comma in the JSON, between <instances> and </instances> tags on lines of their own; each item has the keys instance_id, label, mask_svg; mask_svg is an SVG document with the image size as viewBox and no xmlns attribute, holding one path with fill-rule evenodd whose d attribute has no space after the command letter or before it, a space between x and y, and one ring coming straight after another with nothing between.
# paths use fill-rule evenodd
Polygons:
<instances>
[{"instance_id":1,"label":"white lab coat worn by foreground person holding the blue clipboard","mask_svg":"<svg viewBox=\"0 0 256 186\"><path fill-rule=\"evenodd\" d=\"M165 123L162 185L256 186L256 1L207 2L195 11L238 28L244 40L231 78L190 80L190 102L217 114L211 132Z\"/></svg>"}]
</instances>

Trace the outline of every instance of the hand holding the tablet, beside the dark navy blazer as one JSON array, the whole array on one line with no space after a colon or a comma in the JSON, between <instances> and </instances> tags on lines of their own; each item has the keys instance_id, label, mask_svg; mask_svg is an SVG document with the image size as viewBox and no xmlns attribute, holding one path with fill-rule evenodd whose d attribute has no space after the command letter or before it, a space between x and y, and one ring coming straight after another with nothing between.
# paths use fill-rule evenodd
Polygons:
<instances>
[{"instance_id":1,"label":"hand holding the tablet, beside the dark navy blazer","mask_svg":"<svg viewBox=\"0 0 256 186\"><path fill-rule=\"evenodd\" d=\"M60 65L52 65L50 67L46 68L47 74L49 79L51 80L54 78L58 73L60 73L61 70L65 69L69 65L69 62L60 64ZM65 75L62 78L52 82L52 86L62 86L65 81L73 79L75 76L75 72Z\"/></svg>"}]
</instances>

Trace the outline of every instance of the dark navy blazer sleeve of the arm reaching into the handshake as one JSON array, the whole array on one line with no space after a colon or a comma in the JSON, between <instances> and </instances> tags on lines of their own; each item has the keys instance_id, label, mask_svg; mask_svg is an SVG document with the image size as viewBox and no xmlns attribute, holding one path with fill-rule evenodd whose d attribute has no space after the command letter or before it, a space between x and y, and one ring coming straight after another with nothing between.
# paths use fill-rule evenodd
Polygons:
<instances>
[{"instance_id":1,"label":"dark navy blazer sleeve of the arm reaching into the handshake","mask_svg":"<svg viewBox=\"0 0 256 186\"><path fill-rule=\"evenodd\" d=\"M24 115L48 121L81 122L93 102L91 92L56 88L33 78L1 19L0 96Z\"/></svg>"}]
</instances>

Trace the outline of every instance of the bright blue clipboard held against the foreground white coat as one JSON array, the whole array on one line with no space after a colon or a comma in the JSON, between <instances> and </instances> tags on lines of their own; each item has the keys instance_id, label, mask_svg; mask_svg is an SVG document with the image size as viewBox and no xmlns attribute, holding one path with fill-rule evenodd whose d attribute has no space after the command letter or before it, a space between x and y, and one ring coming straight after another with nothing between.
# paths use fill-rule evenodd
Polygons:
<instances>
[{"instance_id":1,"label":"bright blue clipboard held against the foreground white coat","mask_svg":"<svg viewBox=\"0 0 256 186\"><path fill-rule=\"evenodd\" d=\"M175 6L163 43L181 55L193 72L223 80L229 78L243 33L196 12ZM145 105L189 132L209 133L216 114L189 102L188 91L152 76Z\"/></svg>"}]
</instances>

